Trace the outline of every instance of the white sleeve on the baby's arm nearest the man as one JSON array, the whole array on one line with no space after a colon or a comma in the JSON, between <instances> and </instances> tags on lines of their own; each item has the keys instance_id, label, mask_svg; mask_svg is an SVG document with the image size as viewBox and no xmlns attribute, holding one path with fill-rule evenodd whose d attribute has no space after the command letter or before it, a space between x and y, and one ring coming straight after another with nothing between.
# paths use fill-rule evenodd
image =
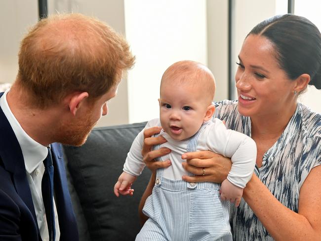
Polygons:
<instances>
[{"instance_id":1,"label":"white sleeve on the baby's arm nearest the man","mask_svg":"<svg viewBox=\"0 0 321 241\"><path fill-rule=\"evenodd\" d=\"M122 170L124 172L127 172L136 177L142 173L145 167L145 162L143 161L142 156L142 149L144 144L144 130L153 126L158 126L159 122L159 119L153 119L151 121L148 121L144 129L142 129L138 133L133 143L131 144L126 161L123 165Z\"/></svg>"}]
</instances>

